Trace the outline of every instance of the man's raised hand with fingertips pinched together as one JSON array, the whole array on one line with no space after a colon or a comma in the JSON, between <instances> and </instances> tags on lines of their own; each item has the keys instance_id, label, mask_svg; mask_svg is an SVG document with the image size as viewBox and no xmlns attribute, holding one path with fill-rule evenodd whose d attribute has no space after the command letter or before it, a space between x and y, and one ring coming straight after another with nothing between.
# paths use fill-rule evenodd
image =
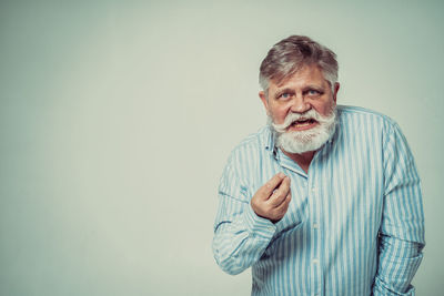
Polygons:
<instances>
[{"instance_id":1,"label":"man's raised hand with fingertips pinched together","mask_svg":"<svg viewBox=\"0 0 444 296\"><path fill-rule=\"evenodd\" d=\"M258 216L276 223L285 215L290 201L290 177L279 173L258 190L251 207Z\"/></svg>"}]
</instances>

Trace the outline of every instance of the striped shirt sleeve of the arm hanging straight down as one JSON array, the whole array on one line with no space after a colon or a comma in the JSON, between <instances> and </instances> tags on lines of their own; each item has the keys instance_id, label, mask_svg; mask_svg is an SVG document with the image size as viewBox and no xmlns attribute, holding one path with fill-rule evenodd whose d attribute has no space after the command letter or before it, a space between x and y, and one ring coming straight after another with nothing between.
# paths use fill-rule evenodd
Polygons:
<instances>
[{"instance_id":1,"label":"striped shirt sleeve of the arm hanging straight down","mask_svg":"<svg viewBox=\"0 0 444 296\"><path fill-rule=\"evenodd\" d=\"M384 143L384 208L373 295L414 295L411 282L425 245L421 181L396 123L387 127Z\"/></svg>"}]
</instances>

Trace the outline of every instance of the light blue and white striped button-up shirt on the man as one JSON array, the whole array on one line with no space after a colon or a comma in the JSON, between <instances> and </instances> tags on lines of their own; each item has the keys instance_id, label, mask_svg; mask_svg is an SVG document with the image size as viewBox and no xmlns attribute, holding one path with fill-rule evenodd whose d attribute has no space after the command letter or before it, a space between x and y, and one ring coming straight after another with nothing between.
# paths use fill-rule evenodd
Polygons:
<instances>
[{"instance_id":1,"label":"light blue and white striped button-up shirt on the man","mask_svg":"<svg viewBox=\"0 0 444 296\"><path fill-rule=\"evenodd\" d=\"M229 274L252 267L252 295L414 295L424 216L420 177L398 125L337 106L339 125L306 174L269 127L231 153L219 187L213 253ZM274 174L292 201L273 224L250 205Z\"/></svg>"}]
</instances>

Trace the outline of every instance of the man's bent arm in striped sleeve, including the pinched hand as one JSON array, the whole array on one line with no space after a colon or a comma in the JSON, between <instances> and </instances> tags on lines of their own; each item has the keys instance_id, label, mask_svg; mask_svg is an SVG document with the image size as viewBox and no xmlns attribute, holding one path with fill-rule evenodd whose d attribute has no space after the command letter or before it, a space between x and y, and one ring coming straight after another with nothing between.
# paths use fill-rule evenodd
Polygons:
<instances>
[{"instance_id":1,"label":"man's bent arm in striped sleeve, including the pinched hand","mask_svg":"<svg viewBox=\"0 0 444 296\"><path fill-rule=\"evenodd\" d=\"M254 196L230 165L219 188L219 210L214 226L213 253L220 267L232 275L258 262L272 239L276 222L291 200L290 178L280 173ZM272 222L273 221L273 222Z\"/></svg>"}]
</instances>

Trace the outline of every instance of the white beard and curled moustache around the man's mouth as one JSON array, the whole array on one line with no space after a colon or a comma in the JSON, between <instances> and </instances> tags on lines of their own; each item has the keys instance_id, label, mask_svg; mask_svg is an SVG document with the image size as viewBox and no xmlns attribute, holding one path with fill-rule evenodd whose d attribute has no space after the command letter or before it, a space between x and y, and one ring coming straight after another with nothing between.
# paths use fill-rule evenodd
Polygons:
<instances>
[{"instance_id":1,"label":"white beard and curled moustache around the man's mouth","mask_svg":"<svg viewBox=\"0 0 444 296\"><path fill-rule=\"evenodd\" d=\"M275 124L270 118L270 124L276 140L276 146L289 153L301 154L309 151L316 151L334 134L336 129L336 106L327 116L320 115L314 109L305 113L290 113L284 123ZM290 131L286 129L299 119L313 119L317 125L306 131Z\"/></svg>"}]
</instances>

